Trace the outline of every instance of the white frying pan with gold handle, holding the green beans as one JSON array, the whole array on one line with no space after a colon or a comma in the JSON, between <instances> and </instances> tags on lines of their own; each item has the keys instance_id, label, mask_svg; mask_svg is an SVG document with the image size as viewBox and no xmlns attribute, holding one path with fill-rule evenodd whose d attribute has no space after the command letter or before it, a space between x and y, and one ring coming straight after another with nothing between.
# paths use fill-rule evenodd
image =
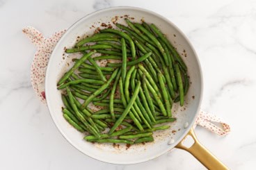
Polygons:
<instances>
[{"instance_id":1,"label":"white frying pan with gold handle, holding the green beans","mask_svg":"<svg viewBox=\"0 0 256 170\"><path fill-rule=\"evenodd\" d=\"M178 104L173 107L173 116L177 117L177 121L170 124L170 129L154 133L154 142L138 144L129 148L122 144L92 144L84 141L84 134L72 128L63 118L61 92L56 88L59 78L71 67L72 58L77 57L74 54L66 56L65 48L74 46L77 39L83 35L92 35L97 27L104 28L102 23L125 24L122 17L129 17L133 22L141 22L143 19L145 22L159 26L182 55L191 80L184 107L181 108ZM98 10L80 19L61 37L51 54L47 67L45 90L49 112L58 130L72 146L91 158L113 164L136 164L157 158L172 148L181 148L189 151L209 169L227 169L198 142L193 132L192 126L198 116L202 99L202 72L198 57L182 31L157 13L142 8L114 7ZM189 135L193 137L194 143L191 147L186 147L182 142Z\"/></svg>"}]
</instances>

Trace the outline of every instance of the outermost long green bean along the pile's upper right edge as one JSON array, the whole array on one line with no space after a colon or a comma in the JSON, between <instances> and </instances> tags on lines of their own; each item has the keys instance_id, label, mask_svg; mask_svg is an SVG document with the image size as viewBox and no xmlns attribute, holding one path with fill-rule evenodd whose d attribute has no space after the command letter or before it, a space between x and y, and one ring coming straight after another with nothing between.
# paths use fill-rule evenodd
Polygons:
<instances>
[{"instance_id":1,"label":"outermost long green bean along the pile's upper right edge","mask_svg":"<svg viewBox=\"0 0 256 170\"><path fill-rule=\"evenodd\" d=\"M151 24L150 27L152 28L152 30L157 33L157 35L159 35L159 37L161 38L161 40L163 40L163 42L166 43L166 45L168 46L168 49L170 49L171 53L173 54L173 56L175 56L175 59L177 60L177 62L179 62L179 64L182 66L182 68L186 71L187 67L184 63L184 61L182 60L182 58L179 56L179 53L177 53L177 51L175 50L175 48L173 47L172 44L170 44L170 42L167 40L167 38L163 35L163 33L161 33L161 31L159 30L159 28L157 28L157 26L155 26L154 24Z\"/></svg>"}]
</instances>

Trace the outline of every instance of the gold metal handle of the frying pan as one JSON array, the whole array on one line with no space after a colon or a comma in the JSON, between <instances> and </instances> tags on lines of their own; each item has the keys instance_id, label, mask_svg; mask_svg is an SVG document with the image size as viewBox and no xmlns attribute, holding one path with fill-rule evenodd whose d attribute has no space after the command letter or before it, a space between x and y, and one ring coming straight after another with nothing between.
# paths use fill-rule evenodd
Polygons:
<instances>
[{"instance_id":1,"label":"gold metal handle of the frying pan","mask_svg":"<svg viewBox=\"0 0 256 170\"><path fill-rule=\"evenodd\" d=\"M186 137L188 135L190 135L194 140L193 145L189 148L187 148L186 146L184 146L182 144L182 142L184 141L184 139L186 139ZM200 142L198 142L198 139L195 136L193 128L191 128L191 130L189 130L189 133L184 137L184 139L182 139L182 141L179 142L179 144L177 144L177 146L175 146L175 147L181 148L181 149L191 153L207 169L218 169L218 170L228 169L225 166L225 164L223 164L220 160L218 160L218 158L216 158L212 153L210 153L207 150L207 148L205 148L205 146L203 146L202 144L200 144Z\"/></svg>"}]
</instances>

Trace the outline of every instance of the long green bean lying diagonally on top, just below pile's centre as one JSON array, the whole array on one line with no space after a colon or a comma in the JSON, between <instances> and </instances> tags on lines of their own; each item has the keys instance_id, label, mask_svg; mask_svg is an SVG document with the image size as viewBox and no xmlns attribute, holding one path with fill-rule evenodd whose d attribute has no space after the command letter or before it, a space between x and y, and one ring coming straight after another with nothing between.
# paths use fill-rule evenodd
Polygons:
<instances>
[{"instance_id":1,"label":"long green bean lying diagonally on top, just below pile's centre","mask_svg":"<svg viewBox=\"0 0 256 170\"><path fill-rule=\"evenodd\" d=\"M111 130L109 130L109 134L113 133L113 131L122 123L123 119L125 119L128 112L131 110L131 106L134 104L134 101L136 100L136 97L138 96L139 87L141 87L141 82L137 83L135 90L134 90L134 94L131 97L131 99L129 100L129 103L127 104L127 107L125 108L125 111L122 113L122 116L119 117L119 119L117 121L115 121L115 124L113 125Z\"/></svg>"}]
</instances>

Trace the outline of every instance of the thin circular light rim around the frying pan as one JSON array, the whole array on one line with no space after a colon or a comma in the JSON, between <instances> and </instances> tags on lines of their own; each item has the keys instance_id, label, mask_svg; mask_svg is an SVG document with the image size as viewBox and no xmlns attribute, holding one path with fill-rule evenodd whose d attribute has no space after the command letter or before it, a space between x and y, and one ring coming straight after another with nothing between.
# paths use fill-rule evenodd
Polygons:
<instances>
[{"instance_id":1,"label":"thin circular light rim around the frying pan","mask_svg":"<svg viewBox=\"0 0 256 170\"><path fill-rule=\"evenodd\" d=\"M51 53L51 56L54 55L54 53L56 52L56 49L58 49L58 46L59 44L61 44L61 41L65 39L65 36L72 30L72 28L76 25L78 25L80 22L83 21L83 19L86 19L88 17L91 17L93 15L97 15L97 13L100 13L100 12L106 12L106 11L109 11L109 10L120 10L120 9L125 9L125 10L139 10L141 12L148 12L152 15L155 15L161 19L163 19L165 22L167 22L168 24L172 25L183 37L184 37L184 40L186 40L186 42L189 44L189 46L191 47L191 50L193 51L194 55L195 55L195 60L196 62L198 63L198 69L199 69L199 74L200 74L200 95L198 96L198 108L196 109L196 113L193 117L193 120L191 121L191 123L189 124L189 126L186 128L186 130L184 131L184 133L181 135L181 137L179 137L178 139L175 140L174 144L172 144L172 146L170 147L166 147L166 149L164 151L161 151L159 152L157 155L154 155L150 158L144 158L144 159L140 159L140 160L137 160L137 161L131 161L131 162L116 162L115 160L113 161L107 161L107 160L103 160L103 159L100 159L100 158L97 158L97 156L94 156L94 155L90 155L90 153L85 153L83 151L81 151L73 142L71 139L69 139L69 137L67 137L64 133L64 130L62 130L61 128L58 127L58 124L56 123L56 119L52 116L52 112L51 111L51 108L50 107L47 107L48 110L49 110L49 114L51 115L51 119L53 119L54 121L54 125L56 126L56 128L58 128L58 130L61 132L61 135L67 140L67 142L69 142L74 148L76 148L78 151L80 151L81 153L83 153L84 155L87 155L88 157L90 158L93 158L95 160L99 160L101 162L106 162L106 163L111 163L111 164L138 164L138 163L142 163L142 162L147 162L149 160L153 160L154 158L158 158L159 156L163 155L164 153L170 151L171 149L175 148L175 146L177 146L177 144L182 141L182 139L184 139L184 137L189 133L189 130L191 130L193 124L195 123L195 119L197 118L198 116L198 113L200 111L200 105L201 105L201 102L202 102L202 92L203 92L203 78L202 78L202 68L201 68L201 65L200 65L200 61L198 60L198 55L197 53L195 52L195 49L193 48L191 42L189 41L189 39L186 37L186 35L184 35L184 33L177 27L175 26L175 24L173 24L173 22L170 22L170 20L166 19L166 17L163 17L162 15L159 15L157 14L156 12L153 12L151 10L146 10L144 8L138 8L138 7L133 7L133 6L115 6L115 7L110 7L110 8L104 8L102 10L97 10L95 12L91 12L90 14L88 15L85 15L84 17L82 17L81 19L77 20L77 22L74 22L74 24L72 24L69 28L67 28L67 31L63 34L63 36L61 37L61 39L58 41L58 43L56 44L56 46L54 47L54 50L52 51ZM46 76L45 76L45 95L46 95L46 98L48 96L48 90L47 90L47 84L48 84L48 75L50 74L49 73L49 66L51 65L51 58L49 58L49 63L48 63L48 66L47 66L47 71L46 71ZM47 101L47 105L49 105L49 101Z\"/></svg>"}]
</instances>

